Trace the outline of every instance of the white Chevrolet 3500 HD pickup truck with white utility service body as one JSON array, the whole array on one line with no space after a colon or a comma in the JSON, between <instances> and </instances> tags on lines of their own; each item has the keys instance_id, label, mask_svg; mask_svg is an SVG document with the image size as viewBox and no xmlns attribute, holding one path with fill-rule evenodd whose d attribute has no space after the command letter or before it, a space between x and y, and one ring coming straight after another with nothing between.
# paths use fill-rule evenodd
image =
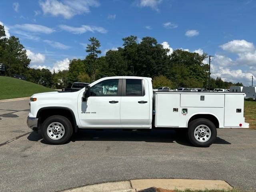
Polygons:
<instances>
[{"instance_id":1,"label":"white Chevrolet 3500 HD pickup truck with white utility service body","mask_svg":"<svg viewBox=\"0 0 256 192\"><path fill-rule=\"evenodd\" d=\"M117 76L99 79L77 92L48 92L30 98L27 124L50 144L63 144L78 129L184 129L195 146L206 147L216 128L248 128L244 94L154 92L152 79ZM106 86L116 86L106 92Z\"/></svg>"}]
</instances>

